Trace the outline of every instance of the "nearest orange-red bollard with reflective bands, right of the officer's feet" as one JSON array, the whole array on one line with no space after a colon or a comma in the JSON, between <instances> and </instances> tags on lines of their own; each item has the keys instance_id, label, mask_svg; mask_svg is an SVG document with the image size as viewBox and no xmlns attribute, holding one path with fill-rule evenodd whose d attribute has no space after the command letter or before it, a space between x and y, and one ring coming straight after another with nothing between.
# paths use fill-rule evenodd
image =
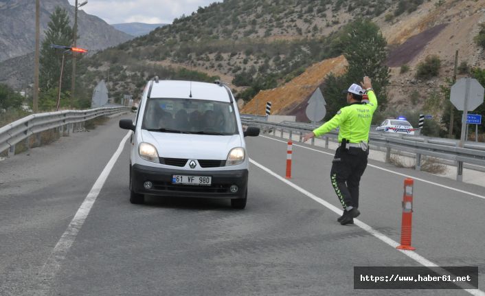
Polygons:
<instances>
[{"instance_id":1,"label":"nearest orange-red bollard with reflective bands, right of the officer's feet","mask_svg":"<svg viewBox=\"0 0 485 296\"><path fill-rule=\"evenodd\" d=\"M401 250L414 251L416 248L411 247L411 229L413 220L413 179L404 180L403 194L403 220L401 222L401 244L396 247Z\"/></svg>"}]
</instances>

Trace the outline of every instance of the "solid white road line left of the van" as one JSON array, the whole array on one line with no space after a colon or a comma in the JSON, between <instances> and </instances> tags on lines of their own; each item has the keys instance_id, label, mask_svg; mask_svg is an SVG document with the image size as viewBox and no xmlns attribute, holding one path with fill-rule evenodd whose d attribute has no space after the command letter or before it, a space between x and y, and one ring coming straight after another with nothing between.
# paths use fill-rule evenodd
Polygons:
<instances>
[{"instance_id":1,"label":"solid white road line left of the van","mask_svg":"<svg viewBox=\"0 0 485 296\"><path fill-rule=\"evenodd\" d=\"M76 212L76 215L71 220L71 223L69 223L66 231L64 231L63 236L60 237L60 240L57 242L56 247L54 247L51 254L49 255L47 262L45 263L41 270L41 273L39 274L39 279L41 280L41 283L39 284L41 285L41 287L38 289L38 291L36 291L36 295L47 295L47 293L49 292L50 282L58 273L60 269L60 264L62 264L63 260L65 259L67 251L69 251L69 248L71 248L74 240L76 240L76 236L78 236L79 230L81 229L84 221L91 211L91 207L93 207L93 204L96 201L98 194L100 194L100 191L104 185L104 182L108 178L109 173L113 169L113 166L115 166L118 157L120 157L126 140L130 136L131 131L128 132L120 142L117 150L104 167L104 170L102 170L100 177L98 177L93 187L91 188L91 191L89 191L86 198L84 198L82 205L79 207L78 212Z\"/></svg>"}]
</instances>

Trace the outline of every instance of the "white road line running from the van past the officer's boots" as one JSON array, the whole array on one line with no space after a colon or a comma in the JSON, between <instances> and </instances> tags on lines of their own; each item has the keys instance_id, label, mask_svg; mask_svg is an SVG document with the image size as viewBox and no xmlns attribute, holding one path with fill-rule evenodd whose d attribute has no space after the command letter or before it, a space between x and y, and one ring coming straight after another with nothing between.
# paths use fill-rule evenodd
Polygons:
<instances>
[{"instance_id":1,"label":"white road line running from the van past the officer's boots","mask_svg":"<svg viewBox=\"0 0 485 296\"><path fill-rule=\"evenodd\" d=\"M293 187L293 189L301 192L302 194L308 196L309 198L312 198L317 203L319 203L319 204L323 205L324 207L330 209L330 211L335 212L339 216L342 214L342 209L339 209L338 207L335 207L335 205L332 205L331 203L328 203L327 201L324 201L322 198L319 198L315 194L312 194L311 192L308 192L308 191L304 190L302 187L296 185L295 183L292 183L291 181L288 181L287 179L284 179L279 174L276 174L275 172L273 172L269 168L266 168L265 166L262 166L262 164L257 163L256 161L253 161L253 159L249 159L249 161L251 163L253 163L253 165L255 165L258 168L260 168L261 170L264 170L264 172L267 172L268 174L271 174L271 176L273 176L276 179L278 179L278 180L286 183L286 185L289 185L289 186ZM357 226L359 226L359 227L361 227L361 229L367 231L369 234L372 234L372 236L374 236L376 238L379 238L379 240L382 240L383 242L385 242L386 244L390 245L390 247L393 247L394 249L396 249L396 247L399 245L399 243L396 242L395 240L393 240L392 238L389 238L389 237L385 236L381 232L379 232L376 229L372 228L370 225L367 225L367 224L363 223L361 220L358 220L358 219L355 219L354 218L354 224L357 225ZM438 264L427 260L426 258L422 257L421 255L419 255L415 251L407 251L407 250L400 250L400 249L396 249L396 251L400 251L401 253L407 255L409 258L411 258L412 260L418 262L419 264L422 264L423 266L440 267L440 266L438 266ZM478 289L464 289L464 291L469 292L471 295L485 296L484 291L481 291L481 290L478 290Z\"/></svg>"}]
</instances>

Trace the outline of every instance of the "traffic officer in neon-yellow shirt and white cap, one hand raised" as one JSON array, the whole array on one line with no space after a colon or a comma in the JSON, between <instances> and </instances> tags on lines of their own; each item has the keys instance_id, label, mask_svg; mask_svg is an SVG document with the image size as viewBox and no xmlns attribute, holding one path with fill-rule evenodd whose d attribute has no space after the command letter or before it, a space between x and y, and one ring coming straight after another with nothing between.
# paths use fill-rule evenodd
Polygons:
<instances>
[{"instance_id":1,"label":"traffic officer in neon-yellow shirt and white cap, one hand raised","mask_svg":"<svg viewBox=\"0 0 485 296\"><path fill-rule=\"evenodd\" d=\"M352 84L347 93L348 106L343 107L328 122L304 136L303 141L319 137L330 130L339 129L339 148L335 152L330 179L335 193L343 206L343 214L337 221L341 225L354 223L359 216L359 182L367 166L369 154L369 130L372 115L377 108L377 98L370 78L365 76L362 87ZM362 101L367 93L368 101Z\"/></svg>"}]
</instances>

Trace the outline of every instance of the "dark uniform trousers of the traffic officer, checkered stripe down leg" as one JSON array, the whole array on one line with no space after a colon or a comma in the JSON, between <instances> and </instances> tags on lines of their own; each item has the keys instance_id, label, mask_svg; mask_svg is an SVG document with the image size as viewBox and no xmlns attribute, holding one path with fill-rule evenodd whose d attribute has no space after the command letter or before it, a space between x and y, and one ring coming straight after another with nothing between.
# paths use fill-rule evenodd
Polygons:
<instances>
[{"instance_id":1,"label":"dark uniform trousers of the traffic officer, checkered stripe down leg","mask_svg":"<svg viewBox=\"0 0 485 296\"><path fill-rule=\"evenodd\" d=\"M367 167L369 150L337 148L330 170L330 180L343 208L359 207L359 183Z\"/></svg>"}]
</instances>

